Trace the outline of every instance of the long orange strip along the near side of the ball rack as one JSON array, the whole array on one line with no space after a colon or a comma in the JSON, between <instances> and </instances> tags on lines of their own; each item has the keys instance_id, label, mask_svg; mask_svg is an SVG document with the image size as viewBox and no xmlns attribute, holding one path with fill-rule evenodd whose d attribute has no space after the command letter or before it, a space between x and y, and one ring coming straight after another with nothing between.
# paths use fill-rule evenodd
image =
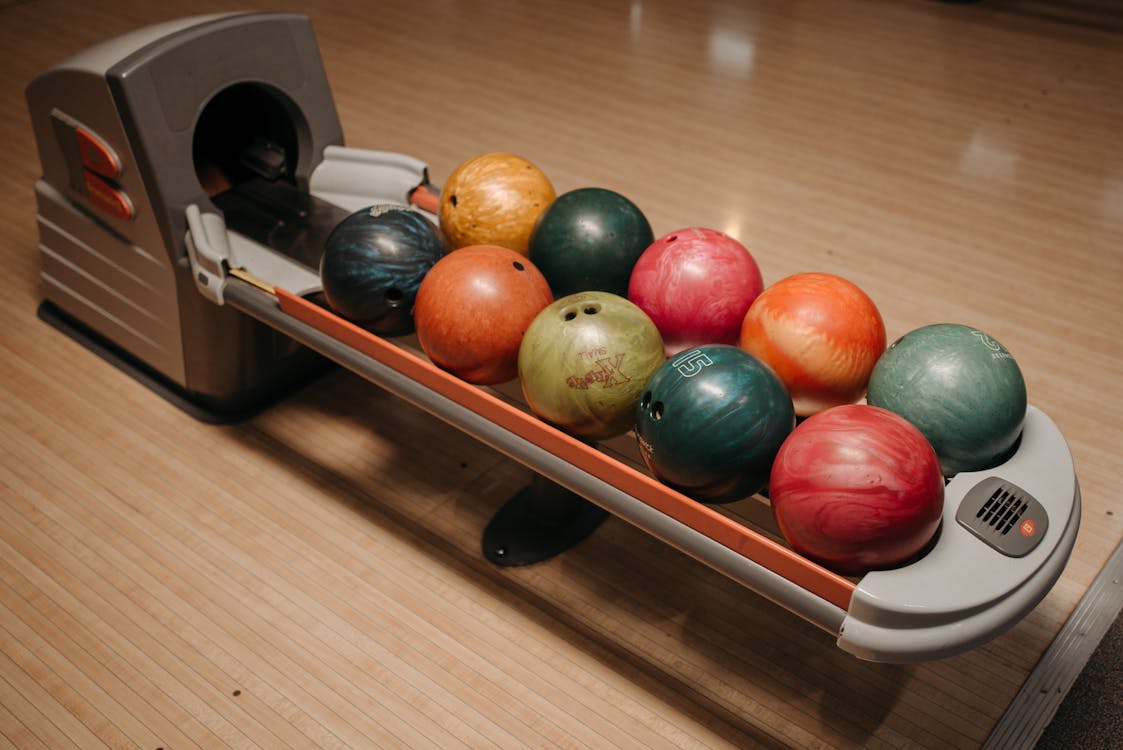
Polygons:
<instances>
[{"instance_id":1,"label":"long orange strip along the near side of the ball rack","mask_svg":"<svg viewBox=\"0 0 1123 750\"><path fill-rule=\"evenodd\" d=\"M439 369L323 308L283 289L275 289L281 310L322 333L376 359L426 387L533 442L699 533L763 565L777 575L847 610L855 584L778 545L654 477L606 456L596 448L504 402L483 388Z\"/></svg>"}]
</instances>

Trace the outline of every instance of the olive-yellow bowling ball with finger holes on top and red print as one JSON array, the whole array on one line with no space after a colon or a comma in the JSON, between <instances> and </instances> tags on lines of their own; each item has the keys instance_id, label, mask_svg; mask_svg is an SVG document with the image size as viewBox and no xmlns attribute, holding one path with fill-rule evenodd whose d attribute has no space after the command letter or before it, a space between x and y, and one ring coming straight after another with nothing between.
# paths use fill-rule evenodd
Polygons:
<instances>
[{"instance_id":1,"label":"olive-yellow bowling ball with finger holes on top and red print","mask_svg":"<svg viewBox=\"0 0 1123 750\"><path fill-rule=\"evenodd\" d=\"M608 292L578 292L538 313L519 349L527 405L541 419L595 440L627 432L643 385L663 364L659 329Z\"/></svg>"}]
</instances>

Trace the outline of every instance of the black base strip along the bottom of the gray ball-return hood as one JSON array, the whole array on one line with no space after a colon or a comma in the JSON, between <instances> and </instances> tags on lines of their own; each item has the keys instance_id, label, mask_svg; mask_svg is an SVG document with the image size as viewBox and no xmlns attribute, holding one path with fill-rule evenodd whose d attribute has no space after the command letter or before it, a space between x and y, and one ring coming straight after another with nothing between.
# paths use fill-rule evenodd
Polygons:
<instances>
[{"instance_id":1,"label":"black base strip along the bottom of the gray ball-return hood","mask_svg":"<svg viewBox=\"0 0 1123 750\"><path fill-rule=\"evenodd\" d=\"M66 314L49 301L39 303L37 309L39 320L83 348L98 355L107 363L125 373L137 383L161 396L170 404L207 424L234 424L259 414L273 404L284 400L294 391L319 379L335 365L328 359L313 360L303 372L293 373L283 385L263 391L250 400L238 403L214 403L191 393L161 373L152 369L143 362L131 356L112 341L107 340L82 321Z\"/></svg>"}]
</instances>

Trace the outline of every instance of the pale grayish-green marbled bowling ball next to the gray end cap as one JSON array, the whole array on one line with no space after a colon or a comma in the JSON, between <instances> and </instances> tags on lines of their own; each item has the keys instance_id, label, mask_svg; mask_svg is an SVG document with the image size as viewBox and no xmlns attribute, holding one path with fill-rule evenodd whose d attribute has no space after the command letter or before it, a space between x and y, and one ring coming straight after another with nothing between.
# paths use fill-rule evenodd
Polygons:
<instances>
[{"instance_id":1,"label":"pale grayish-green marbled bowling ball next to the gray end cap","mask_svg":"<svg viewBox=\"0 0 1123 750\"><path fill-rule=\"evenodd\" d=\"M896 340L874 367L867 400L915 424L946 476L1004 461L1026 410L1025 381L1006 347L958 323L925 326Z\"/></svg>"}]
</instances>

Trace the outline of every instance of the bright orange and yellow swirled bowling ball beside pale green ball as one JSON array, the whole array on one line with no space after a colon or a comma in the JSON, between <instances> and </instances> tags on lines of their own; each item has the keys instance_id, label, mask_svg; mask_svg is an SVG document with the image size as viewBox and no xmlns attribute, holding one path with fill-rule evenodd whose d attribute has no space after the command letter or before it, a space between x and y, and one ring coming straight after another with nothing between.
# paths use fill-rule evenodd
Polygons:
<instances>
[{"instance_id":1,"label":"bright orange and yellow swirled bowling ball beside pale green ball","mask_svg":"<svg viewBox=\"0 0 1123 750\"><path fill-rule=\"evenodd\" d=\"M803 273L760 293L745 314L739 345L776 371L795 413L807 417L865 395L885 350L885 323L853 283Z\"/></svg>"}]
</instances>

